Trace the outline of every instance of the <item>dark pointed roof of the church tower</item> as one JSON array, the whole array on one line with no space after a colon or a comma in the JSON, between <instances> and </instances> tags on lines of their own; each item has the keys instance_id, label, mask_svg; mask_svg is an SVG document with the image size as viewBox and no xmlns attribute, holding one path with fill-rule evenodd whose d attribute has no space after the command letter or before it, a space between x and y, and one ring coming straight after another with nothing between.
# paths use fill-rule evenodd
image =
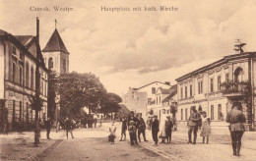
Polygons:
<instances>
[{"instance_id":1,"label":"dark pointed roof of the church tower","mask_svg":"<svg viewBox=\"0 0 256 161\"><path fill-rule=\"evenodd\" d=\"M57 29L54 30L52 33L49 41L45 45L43 52L50 52L50 51L62 51L66 54L69 54L64 42L62 41L59 32Z\"/></svg>"}]
</instances>

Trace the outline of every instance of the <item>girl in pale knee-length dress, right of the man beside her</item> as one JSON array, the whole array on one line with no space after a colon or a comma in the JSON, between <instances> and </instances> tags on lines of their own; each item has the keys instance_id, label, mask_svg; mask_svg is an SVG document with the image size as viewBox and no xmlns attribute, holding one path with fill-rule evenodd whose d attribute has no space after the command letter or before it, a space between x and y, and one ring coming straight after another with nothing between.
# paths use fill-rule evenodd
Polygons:
<instances>
[{"instance_id":1,"label":"girl in pale knee-length dress, right of the man beside her","mask_svg":"<svg viewBox=\"0 0 256 161\"><path fill-rule=\"evenodd\" d=\"M203 137L203 143L205 143L205 137L206 137L206 144L209 143L209 135L211 134L211 121L210 118L207 117L206 112L203 111L202 112L202 128L201 128L201 133L200 136Z\"/></svg>"}]
</instances>

